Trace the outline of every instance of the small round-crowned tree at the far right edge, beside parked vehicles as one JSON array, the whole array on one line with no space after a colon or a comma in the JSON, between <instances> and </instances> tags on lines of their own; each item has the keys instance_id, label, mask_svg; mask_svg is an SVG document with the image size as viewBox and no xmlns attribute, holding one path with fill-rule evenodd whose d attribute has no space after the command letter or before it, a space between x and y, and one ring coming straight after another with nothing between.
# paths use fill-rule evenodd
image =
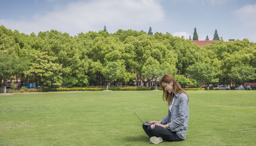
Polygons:
<instances>
[{"instance_id":1,"label":"small round-crowned tree at the far right edge, beside parked vehicles","mask_svg":"<svg viewBox=\"0 0 256 146\"><path fill-rule=\"evenodd\" d=\"M244 88L245 82L256 79L255 71L256 68L253 68L249 65L234 66L231 69L229 77L232 78L234 81L240 82L240 84L242 84Z\"/></svg>"}]
</instances>

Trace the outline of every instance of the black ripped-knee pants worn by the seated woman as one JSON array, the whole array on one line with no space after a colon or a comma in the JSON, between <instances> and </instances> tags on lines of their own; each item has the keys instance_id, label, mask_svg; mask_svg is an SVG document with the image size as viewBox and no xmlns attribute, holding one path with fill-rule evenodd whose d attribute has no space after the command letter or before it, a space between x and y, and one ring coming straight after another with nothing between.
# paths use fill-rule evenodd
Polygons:
<instances>
[{"instance_id":1,"label":"black ripped-knee pants worn by the seated woman","mask_svg":"<svg viewBox=\"0 0 256 146\"><path fill-rule=\"evenodd\" d=\"M183 139L179 138L176 132L172 132L169 129L165 129L161 126L153 125L154 128L151 129L150 126L142 125L144 131L148 137L162 137L166 141L182 141Z\"/></svg>"}]
</instances>

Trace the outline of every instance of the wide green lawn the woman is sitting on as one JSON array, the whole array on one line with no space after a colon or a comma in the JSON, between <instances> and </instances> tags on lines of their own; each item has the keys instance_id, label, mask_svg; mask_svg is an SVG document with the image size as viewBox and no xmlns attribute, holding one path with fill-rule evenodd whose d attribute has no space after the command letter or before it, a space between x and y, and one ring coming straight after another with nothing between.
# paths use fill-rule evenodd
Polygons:
<instances>
[{"instance_id":1,"label":"wide green lawn the woman is sitting on","mask_svg":"<svg viewBox=\"0 0 256 146\"><path fill-rule=\"evenodd\" d=\"M188 91L189 127L168 146L255 146L256 91ZM76 91L0 96L0 146L147 146L162 91Z\"/></svg>"}]
</instances>

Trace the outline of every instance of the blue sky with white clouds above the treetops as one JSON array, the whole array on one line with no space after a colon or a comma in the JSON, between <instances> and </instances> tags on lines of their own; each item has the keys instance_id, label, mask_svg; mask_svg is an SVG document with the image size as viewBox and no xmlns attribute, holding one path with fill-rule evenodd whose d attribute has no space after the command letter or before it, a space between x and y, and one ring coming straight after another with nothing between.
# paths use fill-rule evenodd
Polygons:
<instances>
[{"instance_id":1,"label":"blue sky with white clouds above the treetops","mask_svg":"<svg viewBox=\"0 0 256 146\"><path fill-rule=\"evenodd\" d=\"M256 0L0 0L0 25L20 33L118 29L166 32L199 41L215 29L224 41L256 42Z\"/></svg>"}]
</instances>

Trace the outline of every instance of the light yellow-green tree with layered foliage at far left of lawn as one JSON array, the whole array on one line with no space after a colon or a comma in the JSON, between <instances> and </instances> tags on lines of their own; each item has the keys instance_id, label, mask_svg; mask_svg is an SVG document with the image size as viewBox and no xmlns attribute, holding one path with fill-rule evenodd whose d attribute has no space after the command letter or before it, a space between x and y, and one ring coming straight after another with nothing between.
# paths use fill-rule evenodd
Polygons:
<instances>
[{"instance_id":1,"label":"light yellow-green tree with layered foliage at far left of lawn","mask_svg":"<svg viewBox=\"0 0 256 146\"><path fill-rule=\"evenodd\" d=\"M42 85L61 85L62 66L53 63L56 57L47 55L46 52L35 51L30 54L33 61L30 63L29 70L26 75L34 82L39 82L40 89Z\"/></svg>"}]
</instances>

